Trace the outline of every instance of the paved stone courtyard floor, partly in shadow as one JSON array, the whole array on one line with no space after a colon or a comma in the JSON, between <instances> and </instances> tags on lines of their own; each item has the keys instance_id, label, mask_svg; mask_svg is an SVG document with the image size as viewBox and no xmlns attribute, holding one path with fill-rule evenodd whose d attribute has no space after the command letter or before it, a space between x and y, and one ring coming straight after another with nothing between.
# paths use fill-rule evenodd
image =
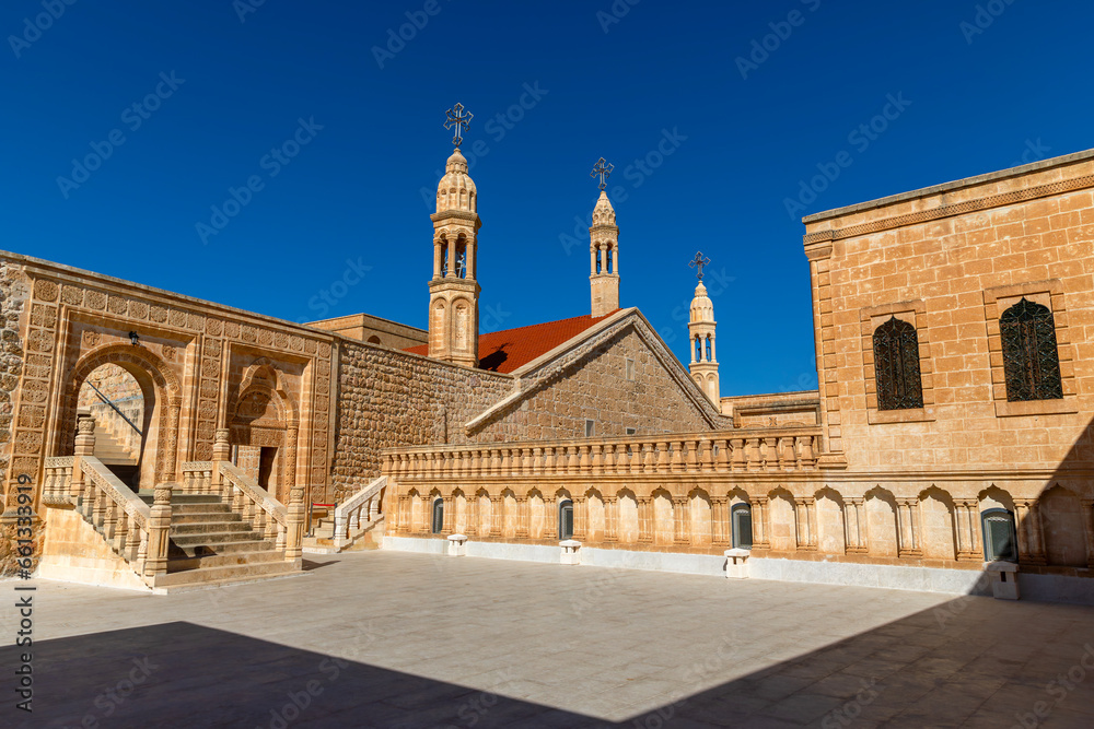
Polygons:
<instances>
[{"instance_id":1,"label":"paved stone courtyard floor, partly in shadow","mask_svg":"<svg viewBox=\"0 0 1094 729\"><path fill-rule=\"evenodd\" d=\"M0 727L1094 727L1091 608L397 552L307 566L166 597L37 580L33 720L5 647Z\"/></svg>"}]
</instances>

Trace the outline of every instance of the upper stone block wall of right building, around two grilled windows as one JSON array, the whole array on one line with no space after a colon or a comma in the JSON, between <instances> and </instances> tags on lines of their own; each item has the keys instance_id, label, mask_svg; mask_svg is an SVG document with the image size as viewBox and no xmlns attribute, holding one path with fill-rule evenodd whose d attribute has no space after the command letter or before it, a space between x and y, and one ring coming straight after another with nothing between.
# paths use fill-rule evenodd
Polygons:
<instances>
[{"instance_id":1,"label":"upper stone block wall of right building, around two grilled windows","mask_svg":"<svg viewBox=\"0 0 1094 729\"><path fill-rule=\"evenodd\" d=\"M807 225L829 437L850 468L1094 463L1092 176L1087 158ZM1023 296L1054 314L1063 400L1006 401L999 317ZM918 414L877 411L872 332L892 316L917 329Z\"/></svg>"}]
</instances>

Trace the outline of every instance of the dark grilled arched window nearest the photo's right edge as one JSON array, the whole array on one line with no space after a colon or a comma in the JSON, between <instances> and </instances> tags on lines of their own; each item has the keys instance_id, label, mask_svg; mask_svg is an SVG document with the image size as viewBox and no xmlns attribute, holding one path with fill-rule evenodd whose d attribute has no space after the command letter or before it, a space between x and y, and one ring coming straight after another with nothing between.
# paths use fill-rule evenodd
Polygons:
<instances>
[{"instance_id":1,"label":"dark grilled arched window nearest the photo's right edge","mask_svg":"<svg viewBox=\"0 0 1094 729\"><path fill-rule=\"evenodd\" d=\"M1063 397L1056 321L1048 307L1023 298L999 317L1006 399L1058 400Z\"/></svg>"}]
</instances>

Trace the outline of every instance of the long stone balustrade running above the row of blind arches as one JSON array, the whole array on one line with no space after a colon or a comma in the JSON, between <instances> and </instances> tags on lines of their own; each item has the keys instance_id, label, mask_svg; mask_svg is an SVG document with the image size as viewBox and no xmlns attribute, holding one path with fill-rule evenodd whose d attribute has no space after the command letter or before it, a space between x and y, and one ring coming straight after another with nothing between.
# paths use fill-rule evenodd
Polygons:
<instances>
[{"instance_id":1,"label":"long stone balustrade running above the row of blind arches","mask_svg":"<svg viewBox=\"0 0 1094 729\"><path fill-rule=\"evenodd\" d=\"M581 440L419 447L384 452L399 481L519 477L784 473L814 471L817 426Z\"/></svg>"}]
</instances>

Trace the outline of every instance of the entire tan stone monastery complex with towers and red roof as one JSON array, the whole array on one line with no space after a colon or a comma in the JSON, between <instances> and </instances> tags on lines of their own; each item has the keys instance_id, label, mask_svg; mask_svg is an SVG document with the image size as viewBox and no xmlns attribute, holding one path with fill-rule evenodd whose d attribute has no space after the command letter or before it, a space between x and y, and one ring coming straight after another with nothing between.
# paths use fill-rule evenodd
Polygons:
<instances>
[{"instance_id":1,"label":"entire tan stone monastery complex with towers and red roof","mask_svg":"<svg viewBox=\"0 0 1094 729\"><path fill-rule=\"evenodd\" d=\"M620 307L603 190L590 310L480 336L477 202L457 148L428 331L0 254L4 569L170 591L382 546L1094 601L1094 151L806 217L804 392L720 396L701 280L688 364Z\"/></svg>"}]
</instances>

